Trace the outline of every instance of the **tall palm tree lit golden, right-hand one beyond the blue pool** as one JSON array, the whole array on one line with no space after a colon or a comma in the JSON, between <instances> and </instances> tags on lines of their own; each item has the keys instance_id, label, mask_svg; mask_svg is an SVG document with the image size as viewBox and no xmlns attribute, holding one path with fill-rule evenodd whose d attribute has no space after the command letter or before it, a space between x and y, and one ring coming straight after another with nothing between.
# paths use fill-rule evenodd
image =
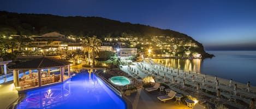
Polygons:
<instances>
[{"instance_id":1,"label":"tall palm tree lit golden, right-hand one beyond the blue pool","mask_svg":"<svg viewBox=\"0 0 256 109\"><path fill-rule=\"evenodd\" d=\"M89 37L89 47L92 49L92 57L93 57L93 61L92 61L92 67L94 67L95 65L95 56L94 56L94 52L97 52L100 44L102 43L102 41L100 39L97 39L97 36L92 36Z\"/></svg>"}]
</instances>

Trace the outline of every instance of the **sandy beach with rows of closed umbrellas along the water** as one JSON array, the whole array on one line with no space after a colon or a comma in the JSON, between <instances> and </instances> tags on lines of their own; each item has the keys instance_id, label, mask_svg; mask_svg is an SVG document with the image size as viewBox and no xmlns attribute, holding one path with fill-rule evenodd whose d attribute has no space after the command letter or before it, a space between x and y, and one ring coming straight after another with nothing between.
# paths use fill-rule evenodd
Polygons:
<instances>
[{"instance_id":1,"label":"sandy beach with rows of closed umbrellas along the water","mask_svg":"<svg viewBox=\"0 0 256 109\"><path fill-rule=\"evenodd\" d=\"M158 67L156 67L158 66ZM218 101L217 90L221 89L221 99L230 107L246 108L249 105L251 98L256 98L256 87L250 86L249 92L246 84L232 81L231 87L229 86L229 80L223 78L217 78L218 85L215 83L215 77L206 75L205 82L203 84L204 74L197 74L193 72L182 72L180 69L173 69L170 67L161 66L157 63L151 63L149 60L143 62L134 62L133 65L122 66L122 70L129 75L134 74L130 72L130 68L138 70L138 75L141 78L146 76L153 76L156 82L161 82L168 85L174 91L182 93L183 95L192 95L199 99L201 104L205 102ZM168 72L166 72L168 70ZM172 77L173 76L173 77ZM194 77L193 77L194 76ZM183 81L184 80L184 81ZM186 82L185 82L186 81ZM198 90L198 84L200 86ZM236 90L234 90L234 84L237 84ZM223 104L224 104L223 103Z\"/></svg>"}]
</instances>

